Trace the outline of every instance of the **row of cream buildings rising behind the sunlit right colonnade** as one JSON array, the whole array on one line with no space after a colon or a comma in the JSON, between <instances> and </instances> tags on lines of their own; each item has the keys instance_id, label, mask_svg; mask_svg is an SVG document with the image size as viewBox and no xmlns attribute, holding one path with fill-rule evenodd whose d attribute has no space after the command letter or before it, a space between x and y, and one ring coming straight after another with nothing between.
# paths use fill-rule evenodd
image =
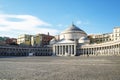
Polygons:
<instances>
[{"instance_id":1,"label":"row of cream buildings rising behind the sunlit right colonnade","mask_svg":"<svg viewBox=\"0 0 120 80\"><path fill-rule=\"evenodd\" d=\"M120 40L120 27L114 27L111 33L88 35L88 38L90 39L90 44L118 41Z\"/></svg>"}]
</instances>

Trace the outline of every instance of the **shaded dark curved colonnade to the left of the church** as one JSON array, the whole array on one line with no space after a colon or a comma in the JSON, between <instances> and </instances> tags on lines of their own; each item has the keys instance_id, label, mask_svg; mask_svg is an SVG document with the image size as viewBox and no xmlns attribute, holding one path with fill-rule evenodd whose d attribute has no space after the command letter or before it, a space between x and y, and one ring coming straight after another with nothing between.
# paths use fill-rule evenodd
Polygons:
<instances>
[{"instance_id":1,"label":"shaded dark curved colonnade to the left of the church","mask_svg":"<svg viewBox=\"0 0 120 80\"><path fill-rule=\"evenodd\" d=\"M29 56L29 53L33 53L33 56L51 56L52 48L0 46L0 56Z\"/></svg>"}]
</instances>

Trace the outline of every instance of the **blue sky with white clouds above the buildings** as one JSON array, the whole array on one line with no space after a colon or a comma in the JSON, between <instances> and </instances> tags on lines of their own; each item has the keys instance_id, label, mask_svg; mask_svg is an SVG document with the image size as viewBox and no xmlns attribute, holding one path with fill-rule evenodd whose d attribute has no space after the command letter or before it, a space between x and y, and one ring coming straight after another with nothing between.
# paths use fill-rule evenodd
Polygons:
<instances>
[{"instance_id":1,"label":"blue sky with white clouds above the buildings","mask_svg":"<svg viewBox=\"0 0 120 80\"><path fill-rule=\"evenodd\" d=\"M0 36L50 32L74 22L87 34L120 26L120 0L0 0Z\"/></svg>"}]
</instances>

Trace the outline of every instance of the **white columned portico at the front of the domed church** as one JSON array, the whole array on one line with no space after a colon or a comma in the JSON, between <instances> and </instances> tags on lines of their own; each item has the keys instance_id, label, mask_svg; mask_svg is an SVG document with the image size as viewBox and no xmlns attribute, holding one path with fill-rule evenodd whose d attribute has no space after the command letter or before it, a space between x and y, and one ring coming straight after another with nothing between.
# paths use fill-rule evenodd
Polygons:
<instances>
[{"instance_id":1,"label":"white columned portico at the front of the domed church","mask_svg":"<svg viewBox=\"0 0 120 80\"><path fill-rule=\"evenodd\" d=\"M76 44L55 44L53 54L57 56L75 56Z\"/></svg>"}]
</instances>

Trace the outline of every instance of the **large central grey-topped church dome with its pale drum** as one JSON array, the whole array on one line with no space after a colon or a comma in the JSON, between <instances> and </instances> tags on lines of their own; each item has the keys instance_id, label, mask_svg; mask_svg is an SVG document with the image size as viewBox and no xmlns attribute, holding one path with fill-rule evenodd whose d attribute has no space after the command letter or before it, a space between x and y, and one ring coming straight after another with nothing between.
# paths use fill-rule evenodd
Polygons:
<instances>
[{"instance_id":1,"label":"large central grey-topped church dome with its pale drum","mask_svg":"<svg viewBox=\"0 0 120 80\"><path fill-rule=\"evenodd\" d=\"M79 38L87 36L87 34L80 28L78 28L76 25L72 24L69 26L66 30L61 32L60 39L70 39L70 40L78 40Z\"/></svg>"}]
</instances>

